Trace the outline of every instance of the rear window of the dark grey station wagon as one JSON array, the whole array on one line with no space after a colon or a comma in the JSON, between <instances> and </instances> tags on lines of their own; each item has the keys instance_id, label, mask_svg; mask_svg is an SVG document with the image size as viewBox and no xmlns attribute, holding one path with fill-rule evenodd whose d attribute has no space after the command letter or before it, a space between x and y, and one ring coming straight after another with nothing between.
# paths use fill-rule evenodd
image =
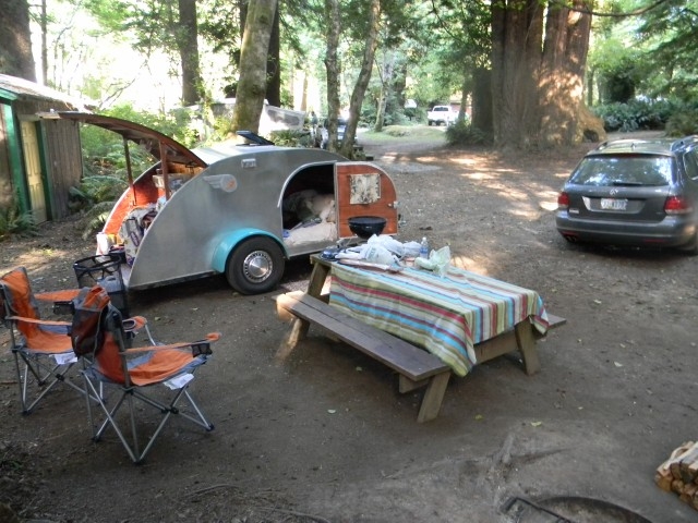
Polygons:
<instances>
[{"instance_id":1,"label":"rear window of the dark grey station wagon","mask_svg":"<svg viewBox=\"0 0 698 523\"><path fill-rule=\"evenodd\" d=\"M669 185L673 159L667 156L589 156L569 181L577 185Z\"/></svg>"}]
</instances>

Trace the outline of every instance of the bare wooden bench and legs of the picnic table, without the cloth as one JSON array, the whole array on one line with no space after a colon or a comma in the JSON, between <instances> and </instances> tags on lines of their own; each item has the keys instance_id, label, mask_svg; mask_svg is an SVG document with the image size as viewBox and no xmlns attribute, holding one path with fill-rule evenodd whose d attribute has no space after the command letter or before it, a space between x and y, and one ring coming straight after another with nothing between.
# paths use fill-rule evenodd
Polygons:
<instances>
[{"instance_id":1,"label":"bare wooden bench and legs of the picnic table, without the cloth","mask_svg":"<svg viewBox=\"0 0 698 523\"><path fill-rule=\"evenodd\" d=\"M417 421L422 423L435 418L452 374L450 366L436 355L330 306L327 303L328 295L323 294L323 287L332 264L317 256L311 259L314 267L308 292L294 291L276 296L278 317L291 321L277 358L282 361L288 357L306 336L310 326L315 325L332 338L341 340L395 370L400 393L425 387ZM550 314L547 319L549 330L566 321ZM483 363L518 350L526 373L532 375L540 369L535 340L541 336L529 321L520 321L513 329L474 344L477 362Z\"/></svg>"}]
</instances>

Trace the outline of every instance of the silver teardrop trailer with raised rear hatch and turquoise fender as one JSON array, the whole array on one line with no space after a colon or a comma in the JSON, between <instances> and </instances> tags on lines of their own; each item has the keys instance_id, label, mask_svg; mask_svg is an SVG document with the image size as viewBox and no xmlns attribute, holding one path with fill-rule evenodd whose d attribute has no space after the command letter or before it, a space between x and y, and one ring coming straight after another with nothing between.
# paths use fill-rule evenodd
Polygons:
<instances>
[{"instance_id":1,"label":"silver teardrop trailer with raised rear hatch and turquoise fender","mask_svg":"<svg viewBox=\"0 0 698 523\"><path fill-rule=\"evenodd\" d=\"M277 147L252 133L241 133L246 145L189 149L125 120L57 114L123 137L130 183L98 234L97 252L122 255L127 290L222 273L242 294L264 293L279 283L288 259L356 241L350 218L383 217L383 233L398 232L395 186L374 163ZM130 143L156 158L135 179Z\"/></svg>"}]
</instances>

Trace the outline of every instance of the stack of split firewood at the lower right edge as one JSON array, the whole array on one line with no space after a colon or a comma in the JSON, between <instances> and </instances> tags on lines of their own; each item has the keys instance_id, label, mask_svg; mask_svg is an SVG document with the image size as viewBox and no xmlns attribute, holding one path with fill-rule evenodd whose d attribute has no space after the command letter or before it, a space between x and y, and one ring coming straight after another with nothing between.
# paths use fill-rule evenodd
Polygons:
<instances>
[{"instance_id":1,"label":"stack of split firewood at the lower right edge","mask_svg":"<svg viewBox=\"0 0 698 523\"><path fill-rule=\"evenodd\" d=\"M659 465L654 482L662 490L676 492L678 499L698 510L698 442L687 441L674 449Z\"/></svg>"}]
</instances>

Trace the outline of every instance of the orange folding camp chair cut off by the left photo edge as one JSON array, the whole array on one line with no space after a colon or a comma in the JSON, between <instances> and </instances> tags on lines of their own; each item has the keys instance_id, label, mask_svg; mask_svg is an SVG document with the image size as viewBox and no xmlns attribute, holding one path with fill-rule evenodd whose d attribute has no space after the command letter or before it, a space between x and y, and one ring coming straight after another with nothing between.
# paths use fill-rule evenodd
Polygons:
<instances>
[{"instance_id":1,"label":"orange folding camp chair cut off by the left photo edge","mask_svg":"<svg viewBox=\"0 0 698 523\"><path fill-rule=\"evenodd\" d=\"M0 315L10 330L24 414L59 384L84 393L82 380L71 373L77 362L68 336L71 324L41 319L39 307L39 302L65 302L76 294L76 290L34 294L24 267L0 277Z\"/></svg>"}]
</instances>

